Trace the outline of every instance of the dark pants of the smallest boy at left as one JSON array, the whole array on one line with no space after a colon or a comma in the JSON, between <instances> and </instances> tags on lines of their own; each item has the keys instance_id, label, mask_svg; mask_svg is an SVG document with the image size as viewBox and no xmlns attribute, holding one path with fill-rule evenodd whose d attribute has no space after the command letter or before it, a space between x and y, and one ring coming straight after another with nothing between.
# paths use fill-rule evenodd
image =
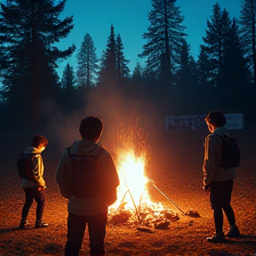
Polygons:
<instances>
[{"instance_id":1,"label":"dark pants of the smallest boy at left","mask_svg":"<svg viewBox=\"0 0 256 256\"><path fill-rule=\"evenodd\" d=\"M37 188L24 188L26 194L26 202L23 205L21 219L26 220L28 218L28 212L35 199L36 205L36 220L42 220L44 213L44 190L38 191Z\"/></svg>"}]
</instances>

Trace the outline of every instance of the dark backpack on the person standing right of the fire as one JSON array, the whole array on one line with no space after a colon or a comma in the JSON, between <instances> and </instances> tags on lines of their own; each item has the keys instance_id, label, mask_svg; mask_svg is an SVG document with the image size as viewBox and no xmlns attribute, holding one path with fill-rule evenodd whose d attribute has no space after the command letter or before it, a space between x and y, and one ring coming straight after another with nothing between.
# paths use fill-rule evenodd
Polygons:
<instances>
[{"instance_id":1,"label":"dark backpack on the person standing right of the fire","mask_svg":"<svg viewBox=\"0 0 256 256\"><path fill-rule=\"evenodd\" d=\"M222 156L220 166L222 167L238 167L240 165L240 150L237 145L236 138L228 136L221 137L222 140Z\"/></svg>"}]
</instances>

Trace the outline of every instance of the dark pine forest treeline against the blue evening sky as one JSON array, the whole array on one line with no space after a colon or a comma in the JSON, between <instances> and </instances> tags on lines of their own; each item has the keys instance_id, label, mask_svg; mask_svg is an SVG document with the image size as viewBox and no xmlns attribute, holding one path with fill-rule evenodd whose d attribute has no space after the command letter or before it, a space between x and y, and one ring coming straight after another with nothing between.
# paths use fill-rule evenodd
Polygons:
<instances>
[{"instance_id":1,"label":"dark pine forest treeline against the blue evening sky","mask_svg":"<svg viewBox=\"0 0 256 256\"><path fill-rule=\"evenodd\" d=\"M134 70L128 68L124 43L113 24L106 49L97 56L86 33L81 45L60 51L56 46L74 28L73 16L60 20L66 0L4 0L0 10L0 118L3 124L28 122L36 129L47 122L43 108L54 102L65 114L87 106L91 93L131 99L143 108L145 100L160 116L204 114L212 109L243 112L256 122L256 1L244 0L240 16L230 17L220 4L205 20L197 59L187 42L180 6L175 0L151 0L148 31ZM86 17L84 18L86 22ZM141 17L143 19L143 17ZM76 66L61 60L77 50ZM141 106L140 106L141 104ZM109 108L109 114L115 106ZM3 121L3 122L2 122Z\"/></svg>"}]
</instances>

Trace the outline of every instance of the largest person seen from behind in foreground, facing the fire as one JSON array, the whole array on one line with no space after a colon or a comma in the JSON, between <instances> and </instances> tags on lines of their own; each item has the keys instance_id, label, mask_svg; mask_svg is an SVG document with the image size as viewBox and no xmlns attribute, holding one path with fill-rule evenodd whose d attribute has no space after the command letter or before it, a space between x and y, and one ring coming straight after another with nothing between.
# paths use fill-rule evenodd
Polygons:
<instances>
[{"instance_id":1,"label":"largest person seen from behind in foreground, facing the fire","mask_svg":"<svg viewBox=\"0 0 256 256\"><path fill-rule=\"evenodd\" d=\"M60 195L68 199L66 256L78 256L88 225L90 255L105 255L108 206L116 202L119 179L112 156L99 145L103 122L86 116L80 124L82 140L66 148L56 171Z\"/></svg>"}]
</instances>

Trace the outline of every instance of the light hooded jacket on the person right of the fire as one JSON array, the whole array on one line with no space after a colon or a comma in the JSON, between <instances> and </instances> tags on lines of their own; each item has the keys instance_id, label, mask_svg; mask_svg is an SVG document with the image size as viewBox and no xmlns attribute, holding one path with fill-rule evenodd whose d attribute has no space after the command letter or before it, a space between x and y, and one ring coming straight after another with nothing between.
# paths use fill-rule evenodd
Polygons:
<instances>
[{"instance_id":1,"label":"light hooded jacket on the person right of the fire","mask_svg":"<svg viewBox=\"0 0 256 256\"><path fill-rule=\"evenodd\" d=\"M222 140L218 136L231 137L230 132L224 127L216 128L204 141L204 186L210 185L213 181L234 180L236 178L235 167L220 166L222 154Z\"/></svg>"}]
</instances>

